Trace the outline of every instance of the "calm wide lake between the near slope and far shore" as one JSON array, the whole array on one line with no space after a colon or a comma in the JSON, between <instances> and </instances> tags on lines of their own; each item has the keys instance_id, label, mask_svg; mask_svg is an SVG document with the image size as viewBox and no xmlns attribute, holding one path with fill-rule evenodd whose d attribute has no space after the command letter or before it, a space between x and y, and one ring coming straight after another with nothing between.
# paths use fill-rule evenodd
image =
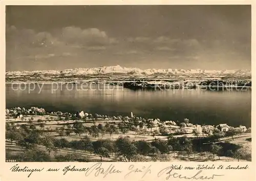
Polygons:
<instances>
[{"instance_id":1,"label":"calm wide lake between the near slope and far shore","mask_svg":"<svg viewBox=\"0 0 256 181\"><path fill-rule=\"evenodd\" d=\"M38 84L39 85L39 84ZM41 86L41 85L40 85ZM76 88L74 88L76 86ZM72 88L73 87L73 88ZM104 88L105 87L105 88ZM42 107L47 111L76 112L108 116L135 116L182 121L193 124L251 126L249 90L131 90L121 86L44 84L11 86L6 84L6 108Z\"/></svg>"}]
</instances>

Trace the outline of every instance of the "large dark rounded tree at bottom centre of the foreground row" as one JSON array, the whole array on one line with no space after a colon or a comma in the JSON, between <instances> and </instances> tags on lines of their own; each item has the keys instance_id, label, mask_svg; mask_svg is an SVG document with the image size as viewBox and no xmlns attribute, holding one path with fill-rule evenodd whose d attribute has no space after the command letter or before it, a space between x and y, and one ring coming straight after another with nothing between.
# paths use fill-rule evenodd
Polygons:
<instances>
[{"instance_id":1,"label":"large dark rounded tree at bottom centre of the foreground row","mask_svg":"<svg viewBox=\"0 0 256 181\"><path fill-rule=\"evenodd\" d=\"M116 140L119 155L124 157L126 162L132 161L134 155L137 154L136 146L127 138L119 137Z\"/></svg>"}]
</instances>

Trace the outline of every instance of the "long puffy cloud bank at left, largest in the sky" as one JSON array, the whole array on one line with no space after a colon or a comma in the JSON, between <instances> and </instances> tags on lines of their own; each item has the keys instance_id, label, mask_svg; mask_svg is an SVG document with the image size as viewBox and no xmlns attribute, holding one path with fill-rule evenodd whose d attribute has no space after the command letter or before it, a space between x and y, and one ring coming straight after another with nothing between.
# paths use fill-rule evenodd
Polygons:
<instances>
[{"instance_id":1,"label":"long puffy cloud bank at left, largest in the sky","mask_svg":"<svg viewBox=\"0 0 256 181\"><path fill-rule=\"evenodd\" d=\"M49 32L35 32L30 29L17 29L14 26L6 27L7 46L52 47L69 46L73 48L102 47L118 44L116 38L109 37L104 31L97 28L81 29L66 27L57 31L56 35ZM96 48L97 49L97 48ZM102 48L101 48L102 49Z\"/></svg>"}]
</instances>

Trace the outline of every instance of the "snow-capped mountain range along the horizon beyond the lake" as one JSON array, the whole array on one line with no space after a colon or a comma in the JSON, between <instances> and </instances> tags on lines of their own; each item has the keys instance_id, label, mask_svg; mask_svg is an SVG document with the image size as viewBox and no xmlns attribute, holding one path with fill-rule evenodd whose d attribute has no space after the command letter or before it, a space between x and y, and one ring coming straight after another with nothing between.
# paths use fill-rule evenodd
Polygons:
<instances>
[{"instance_id":1,"label":"snow-capped mountain range along the horizon beyond the lake","mask_svg":"<svg viewBox=\"0 0 256 181\"><path fill-rule=\"evenodd\" d=\"M168 76L168 77L248 77L250 70L201 70L201 69L146 69L141 70L136 67L101 66L88 69L66 69L63 71L9 71L7 77L19 76L74 76L74 75L126 75L126 76Z\"/></svg>"}]
</instances>

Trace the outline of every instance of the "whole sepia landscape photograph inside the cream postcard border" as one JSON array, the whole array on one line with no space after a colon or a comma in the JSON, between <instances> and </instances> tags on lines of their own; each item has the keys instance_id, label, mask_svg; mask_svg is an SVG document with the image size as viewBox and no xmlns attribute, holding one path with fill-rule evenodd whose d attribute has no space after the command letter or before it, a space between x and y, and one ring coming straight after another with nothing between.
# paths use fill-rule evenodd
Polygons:
<instances>
[{"instance_id":1,"label":"whole sepia landscape photograph inside the cream postcard border","mask_svg":"<svg viewBox=\"0 0 256 181\"><path fill-rule=\"evenodd\" d=\"M9 5L5 34L6 162L251 162L251 5Z\"/></svg>"}]
</instances>

